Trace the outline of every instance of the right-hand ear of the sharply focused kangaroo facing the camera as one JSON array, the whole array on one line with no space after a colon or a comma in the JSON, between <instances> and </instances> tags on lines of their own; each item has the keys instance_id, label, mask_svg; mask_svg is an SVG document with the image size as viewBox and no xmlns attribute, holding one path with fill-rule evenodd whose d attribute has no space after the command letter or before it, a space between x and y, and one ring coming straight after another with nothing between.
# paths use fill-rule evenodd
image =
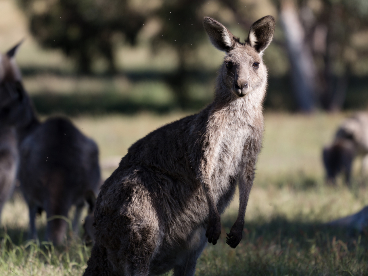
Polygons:
<instances>
[{"instance_id":1,"label":"right-hand ear of the sharply focused kangaroo facing the camera","mask_svg":"<svg viewBox=\"0 0 368 276\"><path fill-rule=\"evenodd\" d=\"M271 15L262 17L254 22L249 30L248 43L258 53L263 52L271 43L275 31L275 18Z\"/></svg>"}]
</instances>

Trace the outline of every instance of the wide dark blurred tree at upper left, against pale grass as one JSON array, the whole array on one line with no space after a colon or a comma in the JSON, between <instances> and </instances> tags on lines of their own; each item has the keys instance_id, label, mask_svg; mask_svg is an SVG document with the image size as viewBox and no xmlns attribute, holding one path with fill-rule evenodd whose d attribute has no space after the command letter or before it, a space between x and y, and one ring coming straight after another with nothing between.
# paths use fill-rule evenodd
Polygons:
<instances>
[{"instance_id":1,"label":"wide dark blurred tree at upper left, against pale grass","mask_svg":"<svg viewBox=\"0 0 368 276\"><path fill-rule=\"evenodd\" d=\"M114 35L121 33L134 44L146 16L127 0L19 1L38 42L62 49L83 73L91 73L92 61L101 57L115 72Z\"/></svg>"}]
</instances>

